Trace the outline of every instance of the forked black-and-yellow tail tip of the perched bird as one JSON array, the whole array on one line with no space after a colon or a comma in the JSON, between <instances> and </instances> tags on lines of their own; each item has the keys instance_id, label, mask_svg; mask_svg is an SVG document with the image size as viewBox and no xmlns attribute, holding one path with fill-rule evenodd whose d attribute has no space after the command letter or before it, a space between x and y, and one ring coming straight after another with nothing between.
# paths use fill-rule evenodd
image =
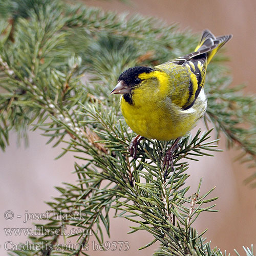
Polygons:
<instances>
[{"instance_id":1,"label":"forked black-and-yellow tail tip of the perched bird","mask_svg":"<svg viewBox=\"0 0 256 256\"><path fill-rule=\"evenodd\" d=\"M207 56L207 65L212 57L232 38L232 35L215 37L209 30L204 30L201 41L196 47L195 52L205 52Z\"/></svg>"}]
</instances>

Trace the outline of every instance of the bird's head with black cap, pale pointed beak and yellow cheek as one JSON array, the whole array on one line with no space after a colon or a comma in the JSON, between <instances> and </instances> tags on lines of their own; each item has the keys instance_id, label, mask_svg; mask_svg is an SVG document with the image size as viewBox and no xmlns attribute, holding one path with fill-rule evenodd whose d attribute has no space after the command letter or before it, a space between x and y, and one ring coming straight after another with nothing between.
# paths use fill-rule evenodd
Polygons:
<instances>
[{"instance_id":1,"label":"bird's head with black cap, pale pointed beak and yellow cheek","mask_svg":"<svg viewBox=\"0 0 256 256\"><path fill-rule=\"evenodd\" d=\"M127 69L118 77L117 86L111 94L123 94L124 100L133 104L135 92L145 94L155 90L154 85L157 86L159 73L158 69L149 67Z\"/></svg>"}]
</instances>

